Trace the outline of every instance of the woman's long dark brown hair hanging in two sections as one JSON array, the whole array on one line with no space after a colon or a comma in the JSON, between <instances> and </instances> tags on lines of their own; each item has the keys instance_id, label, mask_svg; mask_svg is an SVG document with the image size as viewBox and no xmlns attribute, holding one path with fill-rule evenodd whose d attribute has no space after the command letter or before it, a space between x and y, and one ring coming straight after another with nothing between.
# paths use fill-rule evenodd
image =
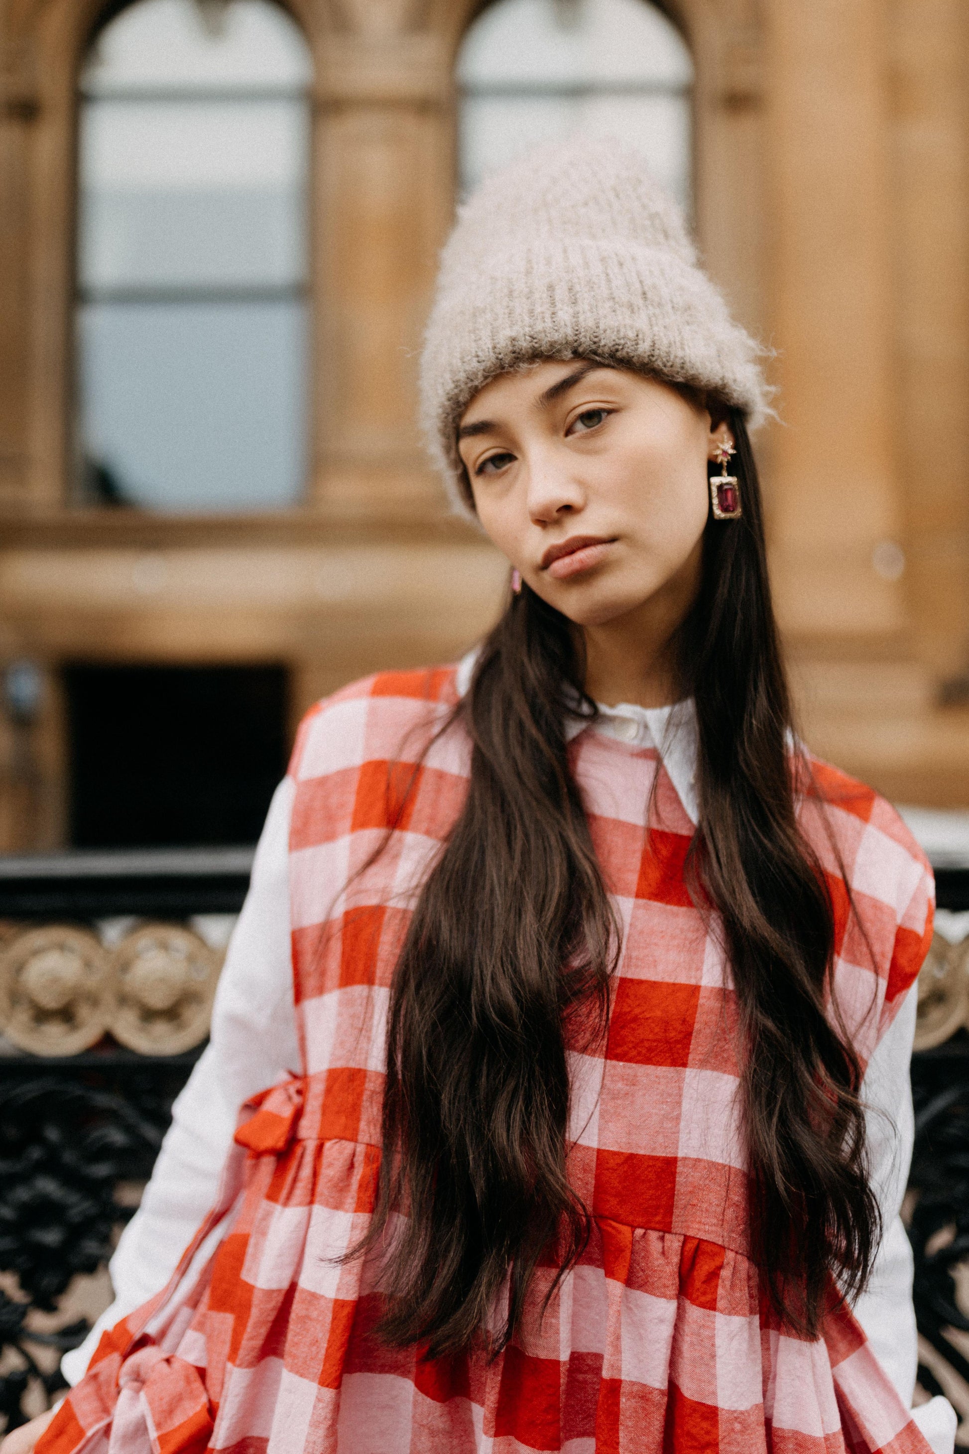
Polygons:
<instances>
[{"instance_id":1,"label":"woman's long dark brown hair hanging in two sections","mask_svg":"<svg viewBox=\"0 0 969 1454\"><path fill-rule=\"evenodd\" d=\"M678 638L699 723L687 881L722 926L739 1003L753 1255L777 1314L814 1335L831 1277L843 1293L867 1278L877 1205L859 1060L825 1013L834 913L795 817L757 468L742 419L723 414L744 513L708 522ZM501 1349L539 1259L561 1277L588 1236L567 1166L565 1047L603 1034L619 932L567 758L569 702L594 715L583 678L565 616L527 586L511 596L456 710L472 742L468 797L395 968L365 1245L405 1213L382 1333L426 1341L431 1357Z\"/></svg>"}]
</instances>

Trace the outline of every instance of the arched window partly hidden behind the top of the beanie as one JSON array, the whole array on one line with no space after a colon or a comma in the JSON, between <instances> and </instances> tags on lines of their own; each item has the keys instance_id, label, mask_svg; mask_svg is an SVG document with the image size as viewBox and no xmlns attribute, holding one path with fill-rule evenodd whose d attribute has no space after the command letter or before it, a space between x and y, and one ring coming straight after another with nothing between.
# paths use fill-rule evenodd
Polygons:
<instances>
[{"instance_id":1,"label":"arched window partly hidden behind the top of the beanie","mask_svg":"<svg viewBox=\"0 0 969 1454\"><path fill-rule=\"evenodd\" d=\"M693 64L645 0L495 0L458 60L461 190L540 141L620 137L690 205Z\"/></svg>"}]
</instances>

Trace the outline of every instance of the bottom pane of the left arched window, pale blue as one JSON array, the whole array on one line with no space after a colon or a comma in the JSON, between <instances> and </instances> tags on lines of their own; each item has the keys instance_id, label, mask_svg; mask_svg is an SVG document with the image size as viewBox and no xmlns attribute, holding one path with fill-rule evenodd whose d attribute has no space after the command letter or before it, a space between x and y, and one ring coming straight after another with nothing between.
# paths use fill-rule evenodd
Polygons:
<instances>
[{"instance_id":1,"label":"bottom pane of the left arched window, pale blue","mask_svg":"<svg viewBox=\"0 0 969 1454\"><path fill-rule=\"evenodd\" d=\"M151 510L298 497L302 302L90 302L78 332L89 496Z\"/></svg>"}]
</instances>

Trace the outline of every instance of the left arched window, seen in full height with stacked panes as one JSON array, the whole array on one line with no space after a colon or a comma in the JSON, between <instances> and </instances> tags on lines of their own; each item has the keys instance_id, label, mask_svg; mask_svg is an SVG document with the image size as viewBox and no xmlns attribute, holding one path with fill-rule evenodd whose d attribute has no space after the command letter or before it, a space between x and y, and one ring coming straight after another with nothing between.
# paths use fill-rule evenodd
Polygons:
<instances>
[{"instance_id":1,"label":"left arched window, seen in full height with stacked panes","mask_svg":"<svg viewBox=\"0 0 969 1454\"><path fill-rule=\"evenodd\" d=\"M309 55L270 0L137 0L80 80L80 497L295 502Z\"/></svg>"}]
</instances>

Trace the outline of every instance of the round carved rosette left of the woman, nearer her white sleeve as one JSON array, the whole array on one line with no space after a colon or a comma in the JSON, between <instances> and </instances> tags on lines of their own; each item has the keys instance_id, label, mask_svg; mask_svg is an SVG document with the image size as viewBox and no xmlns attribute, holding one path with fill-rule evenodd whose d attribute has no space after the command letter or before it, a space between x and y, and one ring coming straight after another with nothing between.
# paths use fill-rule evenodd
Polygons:
<instances>
[{"instance_id":1,"label":"round carved rosette left of the woman, nearer her white sleeve","mask_svg":"<svg viewBox=\"0 0 969 1454\"><path fill-rule=\"evenodd\" d=\"M112 954L115 1040L142 1056L177 1056L209 1031L222 957L198 933L150 923Z\"/></svg>"}]
</instances>

